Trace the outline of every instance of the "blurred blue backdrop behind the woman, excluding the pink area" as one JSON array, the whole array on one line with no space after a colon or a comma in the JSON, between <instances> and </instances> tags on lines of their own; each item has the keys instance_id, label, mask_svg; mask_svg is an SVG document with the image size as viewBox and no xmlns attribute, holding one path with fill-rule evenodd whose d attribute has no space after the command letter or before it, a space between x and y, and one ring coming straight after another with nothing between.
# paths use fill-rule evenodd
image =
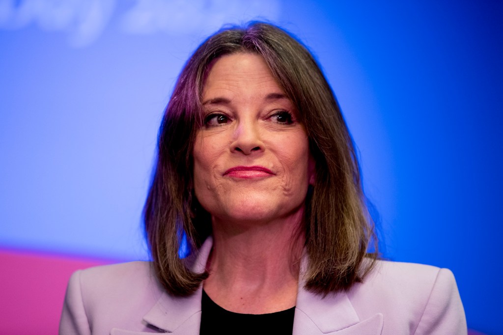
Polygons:
<instances>
[{"instance_id":1,"label":"blurred blue backdrop behind the woman, excluding the pink area","mask_svg":"<svg viewBox=\"0 0 503 335\"><path fill-rule=\"evenodd\" d=\"M338 96L383 255L450 268L469 327L503 333L501 18L498 1L0 0L0 246L147 259L141 209L179 71L224 23L267 19Z\"/></svg>"}]
</instances>

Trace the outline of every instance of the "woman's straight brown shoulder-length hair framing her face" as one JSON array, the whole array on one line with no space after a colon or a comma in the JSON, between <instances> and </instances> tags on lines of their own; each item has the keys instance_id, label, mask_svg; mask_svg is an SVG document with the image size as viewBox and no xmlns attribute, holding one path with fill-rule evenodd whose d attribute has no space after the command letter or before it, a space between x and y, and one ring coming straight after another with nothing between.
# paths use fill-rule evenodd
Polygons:
<instances>
[{"instance_id":1,"label":"woman's straight brown shoulder-length hair framing her face","mask_svg":"<svg viewBox=\"0 0 503 335\"><path fill-rule=\"evenodd\" d=\"M306 289L326 295L350 288L372 268L377 254L374 224L362 191L352 137L328 82L311 53L274 25L252 22L223 29L189 58L166 107L158 135L157 163L144 207L155 273L175 295L193 293L207 273L193 273L188 259L211 234L211 217L193 193L192 148L202 125L205 72L222 55L253 52L264 57L299 112L315 160L315 185L305 211ZM374 253L366 260L371 245Z\"/></svg>"}]
</instances>

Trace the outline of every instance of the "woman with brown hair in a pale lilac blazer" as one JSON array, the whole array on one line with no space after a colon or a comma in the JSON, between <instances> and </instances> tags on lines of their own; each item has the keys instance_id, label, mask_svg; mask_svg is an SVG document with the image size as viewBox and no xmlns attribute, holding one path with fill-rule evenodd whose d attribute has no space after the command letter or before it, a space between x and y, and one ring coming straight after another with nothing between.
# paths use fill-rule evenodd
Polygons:
<instances>
[{"instance_id":1,"label":"woman with brown hair in a pale lilac blazer","mask_svg":"<svg viewBox=\"0 0 503 335\"><path fill-rule=\"evenodd\" d=\"M273 25L220 31L189 59L144 215L153 262L76 272L61 333L466 333L449 270L367 254L338 103Z\"/></svg>"}]
</instances>

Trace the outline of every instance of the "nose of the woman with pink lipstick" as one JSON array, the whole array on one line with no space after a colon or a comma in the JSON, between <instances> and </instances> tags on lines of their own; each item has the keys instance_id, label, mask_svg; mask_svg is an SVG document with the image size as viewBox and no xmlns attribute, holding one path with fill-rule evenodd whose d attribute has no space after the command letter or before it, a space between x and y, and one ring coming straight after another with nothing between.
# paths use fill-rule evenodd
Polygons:
<instances>
[{"instance_id":1,"label":"nose of the woman with pink lipstick","mask_svg":"<svg viewBox=\"0 0 503 335\"><path fill-rule=\"evenodd\" d=\"M264 151L264 143L261 140L259 126L256 121L247 120L237 124L230 150L245 155Z\"/></svg>"}]
</instances>

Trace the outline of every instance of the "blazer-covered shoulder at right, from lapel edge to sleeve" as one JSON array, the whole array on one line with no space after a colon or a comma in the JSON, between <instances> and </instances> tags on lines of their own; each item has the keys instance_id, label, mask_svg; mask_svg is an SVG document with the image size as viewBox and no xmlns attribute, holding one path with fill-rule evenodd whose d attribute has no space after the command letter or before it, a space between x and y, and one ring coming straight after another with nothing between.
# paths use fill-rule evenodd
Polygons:
<instances>
[{"instance_id":1,"label":"blazer-covered shoulder at right, from lapel edge to sleeve","mask_svg":"<svg viewBox=\"0 0 503 335\"><path fill-rule=\"evenodd\" d=\"M466 332L463 305L449 269L377 261L362 282L350 289L348 297L361 316L382 313L386 329L402 329L408 324L407 331L416 333L453 333L441 331L452 327L459 327L460 332L455 333Z\"/></svg>"}]
</instances>

